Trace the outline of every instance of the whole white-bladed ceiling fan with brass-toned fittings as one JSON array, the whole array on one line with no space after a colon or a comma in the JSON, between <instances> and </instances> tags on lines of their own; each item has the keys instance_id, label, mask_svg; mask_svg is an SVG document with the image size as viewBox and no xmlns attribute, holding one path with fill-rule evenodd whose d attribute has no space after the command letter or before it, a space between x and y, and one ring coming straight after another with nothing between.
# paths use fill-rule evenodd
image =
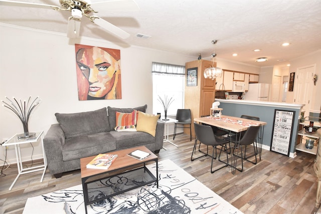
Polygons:
<instances>
[{"instance_id":1,"label":"whole white-bladed ceiling fan with brass-toned fittings","mask_svg":"<svg viewBox=\"0 0 321 214\"><path fill-rule=\"evenodd\" d=\"M98 13L93 8L99 11L136 11L139 10L134 0L59 0L60 7L54 5L44 5L36 3L14 2L0 0L0 5L26 7L26 8L41 8L52 9L56 11L69 11L71 17L68 19L67 36L69 38L77 38L80 30L80 20L82 16L87 17L91 22L105 29L106 31L120 37L128 38L130 35L114 26L113 24L101 19L100 17L91 14Z\"/></svg>"}]
</instances>

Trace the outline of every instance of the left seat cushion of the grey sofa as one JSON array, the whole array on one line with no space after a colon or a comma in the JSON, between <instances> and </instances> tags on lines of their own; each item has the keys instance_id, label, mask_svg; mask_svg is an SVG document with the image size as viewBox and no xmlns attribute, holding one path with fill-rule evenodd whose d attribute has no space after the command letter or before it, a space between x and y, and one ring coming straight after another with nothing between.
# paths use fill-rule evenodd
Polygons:
<instances>
[{"instance_id":1,"label":"left seat cushion of the grey sofa","mask_svg":"<svg viewBox=\"0 0 321 214\"><path fill-rule=\"evenodd\" d=\"M116 140L109 132L100 132L66 139L63 160L74 160L116 149Z\"/></svg>"}]
</instances>

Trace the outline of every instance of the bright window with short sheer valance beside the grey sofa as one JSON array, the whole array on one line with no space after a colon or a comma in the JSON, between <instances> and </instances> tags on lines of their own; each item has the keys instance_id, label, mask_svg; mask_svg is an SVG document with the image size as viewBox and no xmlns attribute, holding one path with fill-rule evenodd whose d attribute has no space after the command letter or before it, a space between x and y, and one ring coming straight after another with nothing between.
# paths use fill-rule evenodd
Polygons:
<instances>
[{"instance_id":1,"label":"bright window with short sheer valance beside the grey sofa","mask_svg":"<svg viewBox=\"0 0 321 214\"><path fill-rule=\"evenodd\" d=\"M164 116L164 107L159 102L173 97L167 115L175 115L177 109L184 108L185 66L164 63L152 63L152 112ZM159 97L158 97L159 96Z\"/></svg>"}]
</instances>

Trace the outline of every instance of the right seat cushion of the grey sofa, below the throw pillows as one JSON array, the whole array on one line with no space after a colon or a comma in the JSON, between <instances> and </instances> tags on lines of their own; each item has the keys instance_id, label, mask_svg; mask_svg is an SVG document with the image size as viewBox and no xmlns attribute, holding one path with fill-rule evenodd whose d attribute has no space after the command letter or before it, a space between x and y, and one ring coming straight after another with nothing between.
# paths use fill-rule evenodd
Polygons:
<instances>
[{"instance_id":1,"label":"right seat cushion of the grey sofa, below the throw pillows","mask_svg":"<svg viewBox=\"0 0 321 214\"><path fill-rule=\"evenodd\" d=\"M154 143L155 138L146 132L109 132L116 139L117 149L124 149L134 146Z\"/></svg>"}]
</instances>

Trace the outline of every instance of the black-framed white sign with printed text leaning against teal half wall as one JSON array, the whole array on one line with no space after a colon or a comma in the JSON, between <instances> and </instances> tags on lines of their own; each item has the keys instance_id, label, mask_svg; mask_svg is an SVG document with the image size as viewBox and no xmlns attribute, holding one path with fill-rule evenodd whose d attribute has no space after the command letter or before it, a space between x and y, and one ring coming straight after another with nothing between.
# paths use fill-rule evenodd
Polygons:
<instances>
[{"instance_id":1,"label":"black-framed white sign with printed text leaning against teal half wall","mask_svg":"<svg viewBox=\"0 0 321 214\"><path fill-rule=\"evenodd\" d=\"M275 110L271 151L289 156L294 111Z\"/></svg>"}]
</instances>

